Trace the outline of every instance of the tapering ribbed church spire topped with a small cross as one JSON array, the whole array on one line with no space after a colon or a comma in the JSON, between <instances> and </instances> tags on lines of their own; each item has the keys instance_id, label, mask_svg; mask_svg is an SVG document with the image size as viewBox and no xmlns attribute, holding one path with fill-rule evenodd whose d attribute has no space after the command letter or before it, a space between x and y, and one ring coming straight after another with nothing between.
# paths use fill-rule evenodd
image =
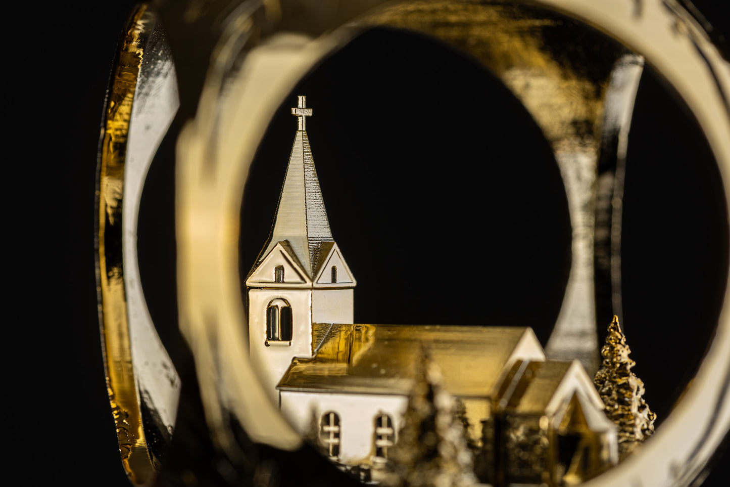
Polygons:
<instances>
[{"instance_id":1,"label":"tapering ribbed church spire topped with a small cross","mask_svg":"<svg viewBox=\"0 0 730 487\"><path fill-rule=\"evenodd\" d=\"M289 165L286 168L284 185L274 216L274 227L254 268L277 242L288 240L302 267L310 273L311 278L317 271L320 243L332 241L332 232L329 229L310 141L305 129L306 117L312 116L312 109L307 108L307 97L299 97L297 105L299 106L291 109L291 114L299 117L299 127L294 136Z\"/></svg>"}]
</instances>

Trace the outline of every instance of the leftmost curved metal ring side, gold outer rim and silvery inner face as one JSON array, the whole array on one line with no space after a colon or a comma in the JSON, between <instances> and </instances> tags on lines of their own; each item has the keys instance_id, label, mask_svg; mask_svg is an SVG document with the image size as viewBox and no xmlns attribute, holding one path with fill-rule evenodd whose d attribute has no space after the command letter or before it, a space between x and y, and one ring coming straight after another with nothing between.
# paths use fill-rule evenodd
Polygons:
<instances>
[{"instance_id":1,"label":"leftmost curved metal ring side, gold outer rim and silvery inner face","mask_svg":"<svg viewBox=\"0 0 730 487\"><path fill-rule=\"evenodd\" d=\"M169 441L180 380L147 311L137 214L152 157L179 105L157 15L140 4L117 45L96 175L96 281L101 350L123 469L150 484Z\"/></svg>"}]
</instances>

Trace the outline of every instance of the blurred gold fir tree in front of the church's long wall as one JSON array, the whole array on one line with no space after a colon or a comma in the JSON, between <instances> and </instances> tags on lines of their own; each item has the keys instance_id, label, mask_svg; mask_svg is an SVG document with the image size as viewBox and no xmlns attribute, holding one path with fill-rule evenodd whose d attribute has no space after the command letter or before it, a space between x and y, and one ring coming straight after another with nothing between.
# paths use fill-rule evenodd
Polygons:
<instances>
[{"instance_id":1,"label":"blurred gold fir tree in front of the church's long wall","mask_svg":"<svg viewBox=\"0 0 730 487\"><path fill-rule=\"evenodd\" d=\"M442 389L442 375L424 352L398 441L383 484L392 487L461 487L477 483L456 401Z\"/></svg>"}]
</instances>

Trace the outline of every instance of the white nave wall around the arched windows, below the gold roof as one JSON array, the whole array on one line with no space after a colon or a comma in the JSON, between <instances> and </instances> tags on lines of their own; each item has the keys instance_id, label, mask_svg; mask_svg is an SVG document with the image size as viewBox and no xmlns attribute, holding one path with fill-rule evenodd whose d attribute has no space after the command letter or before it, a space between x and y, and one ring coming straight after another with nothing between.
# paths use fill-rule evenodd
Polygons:
<instances>
[{"instance_id":1,"label":"white nave wall around the arched windows, below the gold roof","mask_svg":"<svg viewBox=\"0 0 730 487\"><path fill-rule=\"evenodd\" d=\"M326 412L339 415L340 454L342 464L369 462L375 453L375 418L390 415L393 429L402 426L402 415L407 407L405 396L377 396L369 394L281 392L281 410L297 431L306 434L311 428L312 409L317 418Z\"/></svg>"}]
</instances>

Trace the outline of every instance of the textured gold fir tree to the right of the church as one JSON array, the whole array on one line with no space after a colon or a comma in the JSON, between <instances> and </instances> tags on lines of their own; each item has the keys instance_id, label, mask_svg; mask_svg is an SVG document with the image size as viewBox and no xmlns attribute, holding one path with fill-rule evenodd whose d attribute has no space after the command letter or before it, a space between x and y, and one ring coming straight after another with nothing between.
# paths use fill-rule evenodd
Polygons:
<instances>
[{"instance_id":1,"label":"textured gold fir tree to the right of the church","mask_svg":"<svg viewBox=\"0 0 730 487\"><path fill-rule=\"evenodd\" d=\"M601 349L603 366L593 383L606 404L606 414L618 427L618 451L625 456L654 432L656 415L642 397L644 382L631 372L636 365L629 358L626 336L614 316Z\"/></svg>"}]
</instances>

